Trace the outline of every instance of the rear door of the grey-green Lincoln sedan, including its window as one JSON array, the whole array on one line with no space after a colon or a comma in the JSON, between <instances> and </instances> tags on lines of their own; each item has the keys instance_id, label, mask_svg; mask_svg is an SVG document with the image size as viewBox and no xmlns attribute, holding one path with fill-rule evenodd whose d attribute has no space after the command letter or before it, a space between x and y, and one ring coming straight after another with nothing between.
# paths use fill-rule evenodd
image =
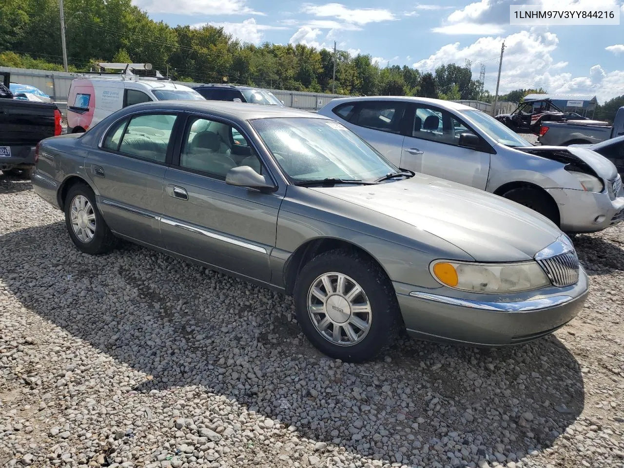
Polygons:
<instances>
[{"instance_id":1,"label":"rear door of the grey-green Lincoln sedan, including its window","mask_svg":"<svg viewBox=\"0 0 624 468\"><path fill-rule=\"evenodd\" d=\"M160 246L163 178L171 161L178 117L170 112L134 114L113 124L86 170L99 192L110 229Z\"/></svg>"}]
</instances>

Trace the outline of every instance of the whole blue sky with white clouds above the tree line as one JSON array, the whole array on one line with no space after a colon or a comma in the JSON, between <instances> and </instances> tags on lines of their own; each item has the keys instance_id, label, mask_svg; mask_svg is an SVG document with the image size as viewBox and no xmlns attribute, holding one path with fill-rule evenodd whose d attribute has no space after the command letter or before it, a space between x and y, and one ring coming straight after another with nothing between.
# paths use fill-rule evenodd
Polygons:
<instances>
[{"instance_id":1,"label":"whole blue sky with white clouds above the tree line","mask_svg":"<svg viewBox=\"0 0 624 468\"><path fill-rule=\"evenodd\" d=\"M381 66L421 71L472 61L485 65L494 92L497 57L505 40L502 92L544 87L548 92L596 94L600 102L624 94L624 0L133 0L150 17L177 24L223 26L241 41L303 43L370 54ZM511 26L512 4L552 9L619 9L618 26Z\"/></svg>"}]
</instances>

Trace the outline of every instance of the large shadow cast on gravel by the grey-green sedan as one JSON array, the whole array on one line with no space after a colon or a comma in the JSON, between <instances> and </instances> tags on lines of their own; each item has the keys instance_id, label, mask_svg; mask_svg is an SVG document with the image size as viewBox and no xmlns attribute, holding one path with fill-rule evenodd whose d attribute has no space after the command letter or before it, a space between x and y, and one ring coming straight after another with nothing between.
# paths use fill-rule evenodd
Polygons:
<instances>
[{"instance_id":1,"label":"large shadow cast on gravel by the grey-green sedan","mask_svg":"<svg viewBox=\"0 0 624 468\"><path fill-rule=\"evenodd\" d=\"M83 255L60 222L0 237L0 278L147 374L134 391L202 386L363 456L511 460L550 446L583 410L578 363L555 336L505 349L404 338L389 363L340 364L299 333L290 298L137 246Z\"/></svg>"}]
</instances>

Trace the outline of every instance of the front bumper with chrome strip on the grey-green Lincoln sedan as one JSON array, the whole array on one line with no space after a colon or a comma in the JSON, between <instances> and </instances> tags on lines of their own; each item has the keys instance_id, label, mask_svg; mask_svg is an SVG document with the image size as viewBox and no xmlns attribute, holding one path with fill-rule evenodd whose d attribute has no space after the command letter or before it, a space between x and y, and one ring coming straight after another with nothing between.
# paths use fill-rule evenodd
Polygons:
<instances>
[{"instance_id":1,"label":"front bumper with chrome strip on the grey-green Lincoln sedan","mask_svg":"<svg viewBox=\"0 0 624 468\"><path fill-rule=\"evenodd\" d=\"M587 298L587 274L580 268L573 286L530 291L509 301L449 288L394 287L407 332L414 338L505 346L540 338L572 320Z\"/></svg>"}]
</instances>

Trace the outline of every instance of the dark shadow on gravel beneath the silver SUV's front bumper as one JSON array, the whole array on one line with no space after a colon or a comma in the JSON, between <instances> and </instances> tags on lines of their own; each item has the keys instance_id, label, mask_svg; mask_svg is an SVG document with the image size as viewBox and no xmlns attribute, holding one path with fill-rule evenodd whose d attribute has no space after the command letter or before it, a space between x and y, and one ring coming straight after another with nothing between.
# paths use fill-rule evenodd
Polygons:
<instances>
[{"instance_id":1,"label":"dark shadow on gravel beneath the silver SUV's front bumper","mask_svg":"<svg viewBox=\"0 0 624 468\"><path fill-rule=\"evenodd\" d=\"M574 240L578 258L590 276L624 271L624 244L617 239L580 235Z\"/></svg>"}]
</instances>

